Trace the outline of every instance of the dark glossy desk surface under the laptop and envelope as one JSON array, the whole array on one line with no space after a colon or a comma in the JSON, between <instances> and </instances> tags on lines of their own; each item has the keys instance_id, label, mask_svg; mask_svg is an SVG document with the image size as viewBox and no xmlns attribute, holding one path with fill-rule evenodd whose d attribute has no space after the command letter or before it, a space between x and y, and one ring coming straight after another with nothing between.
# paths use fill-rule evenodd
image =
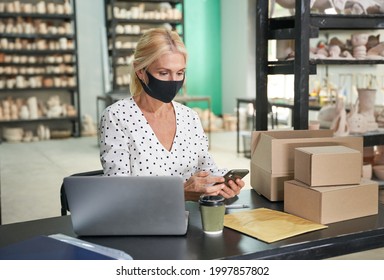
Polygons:
<instances>
[{"instance_id":1,"label":"dark glossy desk surface under the laptop and envelope","mask_svg":"<svg viewBox=\"0 0 384 280\"><path fill-rule=\"evenodd\" d=\"M253 190L244 190L236 203L252 208L282 210L282 202L269 202ZM384 246L384 206L379 214L330 224L327 229L302 234L272 244L232 229L209 236L201 230L198 205L190 210L185 236L82 237L96 244L123 250L134 259L323 259ZM246 210L246 209L245 209ZM229 210L231 212L244 210ZM36 235L62 233L75 236L70 216L0 226L0 247Z\"/></svg>"}]
</instances>

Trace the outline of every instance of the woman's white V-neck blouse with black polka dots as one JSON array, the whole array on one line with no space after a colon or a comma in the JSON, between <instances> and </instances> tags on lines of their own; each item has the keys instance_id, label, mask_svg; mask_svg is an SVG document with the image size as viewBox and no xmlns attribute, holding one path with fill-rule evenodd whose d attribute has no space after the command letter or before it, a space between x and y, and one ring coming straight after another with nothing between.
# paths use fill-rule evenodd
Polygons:
<instances>
[{"instance_id":1,"label":"woman's white V-neck blouse with black polka dots","mask_svg":"<svg viewBox=\"0 0 384 280\"><path fill-rule=\"evenodd\" d=\"M176 113L176 136L168 151L158 141L133 98L105 109L100 121L100 160L107 176L181 176L209 170L222 176L208 152L208 139L197 113L172 102Z\"/></svg>"}]
</instances>

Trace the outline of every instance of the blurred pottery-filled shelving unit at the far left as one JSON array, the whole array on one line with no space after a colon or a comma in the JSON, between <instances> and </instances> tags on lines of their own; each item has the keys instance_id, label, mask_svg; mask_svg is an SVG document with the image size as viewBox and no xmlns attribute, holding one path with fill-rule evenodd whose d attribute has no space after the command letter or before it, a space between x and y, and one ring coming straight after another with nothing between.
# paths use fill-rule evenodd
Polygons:
<instances>
[{"instance_id":1,"label":"blurred pottery-filled shelving unit at the far left","mask_svg":"<svg viewBox=\"0 0 384 280\"><path fill-rule=\"evenodd\" d=\"M0 3L0 139L13 128L29 140L80 136L75 7L75 0Z\"/></svg>"}]
</instances>

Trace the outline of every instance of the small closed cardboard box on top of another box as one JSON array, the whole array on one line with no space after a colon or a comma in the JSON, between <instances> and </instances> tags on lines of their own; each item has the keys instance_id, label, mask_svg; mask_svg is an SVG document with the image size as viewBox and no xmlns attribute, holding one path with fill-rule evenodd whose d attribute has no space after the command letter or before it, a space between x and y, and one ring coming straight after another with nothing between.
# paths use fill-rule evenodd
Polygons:
<instances>
[{"instance_id":1,"label":"small closed cardboard box on top of another box","mask_svg":"<svg viewBox=\"0 0 384 280\"><path fill-rule=\"evenodd\" d=\"M294 178L309 186L359 184L362 155L345 146L295 149Z\"/></svg>"}]
</instances>

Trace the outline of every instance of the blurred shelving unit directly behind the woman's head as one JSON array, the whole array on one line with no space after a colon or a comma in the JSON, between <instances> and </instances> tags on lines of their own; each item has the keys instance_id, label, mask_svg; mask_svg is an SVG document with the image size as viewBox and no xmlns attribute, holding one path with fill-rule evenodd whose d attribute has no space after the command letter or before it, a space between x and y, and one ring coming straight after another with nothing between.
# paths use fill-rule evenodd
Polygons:
<instances>
[{"instance_id":1,"label":"blurred shelving unit directly behind the woman's head","mask_svg":"<svg viewBox=\"0 0 384 280\"><path fill-rule=\"evenodd\" d=\"M112 91L129 93L129 68L139 37L159 26L184 36L184 1L105 0L105 11Z\"/></svg>"}]
</instances>

